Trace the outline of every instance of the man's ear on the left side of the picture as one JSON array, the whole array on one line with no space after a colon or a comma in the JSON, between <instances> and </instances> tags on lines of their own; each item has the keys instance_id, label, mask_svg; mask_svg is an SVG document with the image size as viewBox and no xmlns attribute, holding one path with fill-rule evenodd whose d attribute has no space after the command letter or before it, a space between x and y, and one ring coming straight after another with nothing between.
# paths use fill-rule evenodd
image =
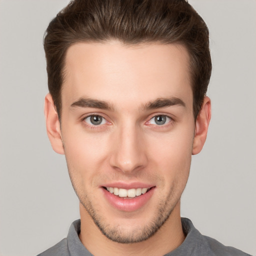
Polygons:
<instances>
[{"instance_id":1,"label":"man's ear on the left side of the picture","mask_svg":"<svg viewBox=\"0 0 256 256\"><path fill-rule=\"evenodd\" d=\"M53 99L49 93L44 98L44 116L46 121L47 135L53 150L59 154L64 154L60 123L54 107Z\"/></svg>"}]
</instances>

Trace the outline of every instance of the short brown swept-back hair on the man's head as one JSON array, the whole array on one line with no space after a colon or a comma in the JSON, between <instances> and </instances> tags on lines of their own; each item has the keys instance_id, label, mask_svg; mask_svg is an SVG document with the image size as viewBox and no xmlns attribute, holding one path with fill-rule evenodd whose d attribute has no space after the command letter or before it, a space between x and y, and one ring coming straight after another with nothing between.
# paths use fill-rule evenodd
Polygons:
<instances>
[{"instance_id":1,"label":"short brown swept-back hair on the man's head","mask_svg":"<svg viewBox=\"0 0 256 256\"><path fill-rule=\"evenodd\" d=\"M48 88L58 116L65 53L75 42L117 39L125 44L179 43L190 56L196 118L211 74L208 28L185 0L72 0L53 18L44 36Z\"/></svg>"}]
</instances>

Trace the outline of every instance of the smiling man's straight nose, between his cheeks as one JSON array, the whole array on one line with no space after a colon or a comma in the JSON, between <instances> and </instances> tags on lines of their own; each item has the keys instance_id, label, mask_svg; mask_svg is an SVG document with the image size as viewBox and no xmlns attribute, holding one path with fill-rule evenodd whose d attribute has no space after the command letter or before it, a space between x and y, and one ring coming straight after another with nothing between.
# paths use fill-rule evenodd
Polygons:
<instances>
[{"instance_id":1,"label":"smiling man's straight nose, between his cheeks","mask_svg":"<svg viewBox=\"0 0 256 256\"><path fill-rule=\"evenodd\" d=\"M146 148L139 127L123 125L112 138L110 165L124 173L132 173L147 165Z\"/></svg>"}]
</instances>

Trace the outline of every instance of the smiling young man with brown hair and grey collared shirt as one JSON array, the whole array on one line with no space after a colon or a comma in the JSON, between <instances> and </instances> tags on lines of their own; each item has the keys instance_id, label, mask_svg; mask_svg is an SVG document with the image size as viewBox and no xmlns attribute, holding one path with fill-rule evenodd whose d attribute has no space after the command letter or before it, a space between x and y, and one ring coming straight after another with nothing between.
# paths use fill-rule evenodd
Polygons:
<instances>
[{"instance_id":1,"label":"smiling young man with brown hair and grey collared shirt","mask_svg":"<svg viewBox=\"0 0 256 256\"><path fill-rule=\"evenodd\" d=\"M248 255L180 218L210 121L208 30L184 0L76 0L44 40L48 137L80 221L40 255Z\"/></svg>"}]
</instances>

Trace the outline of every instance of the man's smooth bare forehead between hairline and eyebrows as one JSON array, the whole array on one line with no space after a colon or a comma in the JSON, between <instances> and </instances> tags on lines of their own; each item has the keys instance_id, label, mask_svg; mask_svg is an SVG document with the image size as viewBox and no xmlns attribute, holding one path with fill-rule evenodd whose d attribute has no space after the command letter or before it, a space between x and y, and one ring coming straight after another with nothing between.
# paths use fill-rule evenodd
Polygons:
<instances>
[{"instance_id":1,"label":"man's smooth bare forehead between hairline and eyebrows","mask_svg":"<svg viewBox=\"0 0 256 256\"><path fill-rule=\"evenodd\" d=\"M177 44L76 43L66 52L62 102L93 97L143 103L163 96L191 101L188 63L187 50Z\"/></svg>"}]
</instances>

